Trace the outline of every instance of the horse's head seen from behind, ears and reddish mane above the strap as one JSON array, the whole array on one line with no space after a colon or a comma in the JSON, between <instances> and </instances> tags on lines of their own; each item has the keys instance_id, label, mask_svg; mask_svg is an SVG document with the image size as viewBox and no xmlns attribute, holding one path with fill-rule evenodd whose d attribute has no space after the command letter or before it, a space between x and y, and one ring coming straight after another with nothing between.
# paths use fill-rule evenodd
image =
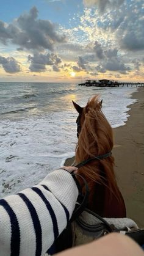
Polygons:
<instances>
[{"instance_id":1,"label":"horse's head seen from behind, ears and reddish mane above the strap","mask_svg":"<svg viewBox=\"0 0 144 256\"><path fill-rule=\"evenodd\" d=\"M79 114L76 123L81 158L103 155L112 150L112 128L101 111L102 102L98 100L98 95L88 100L84 108L73 102Z\"/></svg>"}]
</instances>

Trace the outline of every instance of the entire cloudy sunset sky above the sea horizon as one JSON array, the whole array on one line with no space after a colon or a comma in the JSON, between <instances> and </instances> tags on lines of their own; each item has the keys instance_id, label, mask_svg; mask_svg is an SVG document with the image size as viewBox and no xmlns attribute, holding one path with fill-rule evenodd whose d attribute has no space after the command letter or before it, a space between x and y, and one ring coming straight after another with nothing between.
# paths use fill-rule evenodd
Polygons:
<instances>
[{"instance_id":1,"label":"entire cloudy sunset sky above the sea horizon","mask_svg":"<svg viewBox=\"0 0 144 256\"><path fill-rule=\"evenodd\" d=\"M142 0L1 0L0 82L144 82Z\"/></svg>"}]
</instances>

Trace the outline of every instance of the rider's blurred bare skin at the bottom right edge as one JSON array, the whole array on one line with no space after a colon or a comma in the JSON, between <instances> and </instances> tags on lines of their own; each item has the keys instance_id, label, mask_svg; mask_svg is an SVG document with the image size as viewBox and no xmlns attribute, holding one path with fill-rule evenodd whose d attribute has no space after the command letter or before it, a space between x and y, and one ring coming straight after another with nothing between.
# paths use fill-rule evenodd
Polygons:
<instances>
[{"instance_id":1,"label":"rider's blurred bare skin at the bottom right edge","mask_svg":"<svg viewBox=\"0 0 144 256\"><path fill-rule=\"evenodd\" d=\"M92 243L65 250L57 256L144 256L142 249L128 236L110 233Z\"/></svg>"}]
</instances>

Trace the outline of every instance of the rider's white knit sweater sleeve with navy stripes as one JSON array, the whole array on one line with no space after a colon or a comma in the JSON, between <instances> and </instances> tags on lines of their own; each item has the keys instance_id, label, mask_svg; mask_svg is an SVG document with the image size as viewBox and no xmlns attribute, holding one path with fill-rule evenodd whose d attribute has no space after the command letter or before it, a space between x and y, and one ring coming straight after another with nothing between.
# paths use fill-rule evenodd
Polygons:
<instances>
[{"instance_id":1,"label":"rider's white knit sweater sleeve with navy stripes","mask_svg":"<svg viewBox=\"0 0 144 256\"><path fill-rule=\"evenodd\" d=\"M73 177L54 170L37 186L0 200L0 256L45 255L78 196Z\"/></svg>"}]
</instances>

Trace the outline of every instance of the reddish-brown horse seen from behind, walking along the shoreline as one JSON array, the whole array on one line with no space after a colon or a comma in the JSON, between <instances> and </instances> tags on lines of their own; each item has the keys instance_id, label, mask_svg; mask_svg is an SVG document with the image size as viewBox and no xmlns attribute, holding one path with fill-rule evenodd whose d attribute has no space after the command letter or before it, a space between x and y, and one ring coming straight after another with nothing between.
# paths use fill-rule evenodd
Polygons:
<instances>
[{"instance_id":1,"label":"reddish-brown horse seen from behind, walking along the shoreline","mask_svg":"<svg viewBox=\"0 0 144 256\"><path fill-rule=\"evenodd\" d=\"M88 101L84 108L74 102L73 104L79 113L77 117L76 164L92 158L88 163L82 166L80 164L81 167L78 169L78 174L87 180L90 189L87 207L103 217L124 218L126 217L126 208L118 189L113 171L114 158L111 156L112 127L101 111L102 101L100 102L96 95ZM81 179L79 182L84 189Z\"/></svg>"}]
</instances>

